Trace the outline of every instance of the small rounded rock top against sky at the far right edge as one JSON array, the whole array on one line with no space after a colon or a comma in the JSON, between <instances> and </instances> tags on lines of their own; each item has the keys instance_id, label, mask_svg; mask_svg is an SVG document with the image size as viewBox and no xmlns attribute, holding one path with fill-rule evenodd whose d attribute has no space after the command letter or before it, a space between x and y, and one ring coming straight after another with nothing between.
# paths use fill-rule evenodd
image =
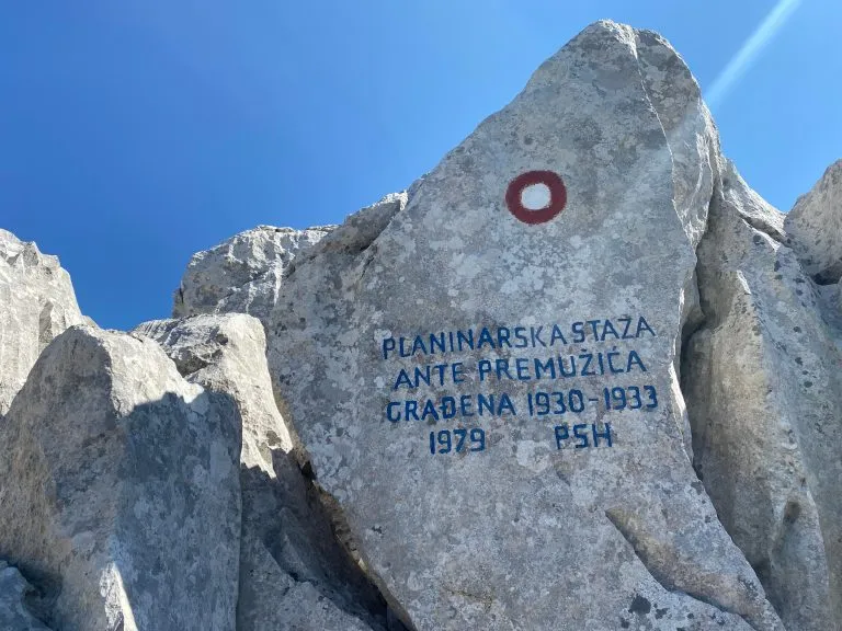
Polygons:
<instances>
[{"instance_id":1,"label":"small rounded rock top against sky at the far right edge","mask_svg":"<svg viewBox=\"0 0 842 631\"><path fill-rule=\"evenodd\" d=\"M828 167L786 216L788 245L804 271L821 284L842 278L842 160Z\"/></svg>"}]
</instances>

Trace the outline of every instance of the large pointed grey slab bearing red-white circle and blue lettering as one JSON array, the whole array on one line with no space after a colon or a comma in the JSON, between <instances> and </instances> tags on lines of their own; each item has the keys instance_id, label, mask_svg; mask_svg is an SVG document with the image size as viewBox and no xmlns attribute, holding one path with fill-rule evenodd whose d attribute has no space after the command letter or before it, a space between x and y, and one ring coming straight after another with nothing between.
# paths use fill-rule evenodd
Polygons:
<instances>
[{"instance_id":1,"label":"large pointed grey slab bearing red-white circle and blue lettering","mask_svg":"<svg viewBox=\"0 0 842 631\"><path fill-rule=\"evenodd\" d=\"M693 312L716 148L674 51L598 23L406 207L361 211L287 272L269 322L281 408L360 562L406 622L783 629L685 447L675 349ZM505 202L508 184L532 171L567 187L564 211L537 225ZM448 332L468 329L474 346L454 349ZM445 349L430 353L441 332ZM606 367L608 353L622 371ZM577 376L536 378L535 359L559 357L566 370L579 362ZM417 369L443 364L414 382ZM608 409L604 388L622 388L626 409L611 390ZM539 391L550 393L546 414ZM478 414L480 393L494 395L494 413ZM428 399L435 414L423 413ZM403 418L407 400L421 420ZM590 447L576 448L574 433Z\"/></svg>"}]
</instances>

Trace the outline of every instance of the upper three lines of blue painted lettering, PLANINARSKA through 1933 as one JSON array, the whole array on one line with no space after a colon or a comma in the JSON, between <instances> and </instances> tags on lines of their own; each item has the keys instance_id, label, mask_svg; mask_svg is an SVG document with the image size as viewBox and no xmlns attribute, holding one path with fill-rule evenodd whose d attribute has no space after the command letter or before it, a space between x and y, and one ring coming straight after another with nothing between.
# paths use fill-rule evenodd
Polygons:
<instances>
[{"instance_id":1,"label":"upper three lines of blue painted lettering, PLANINARSKA through 1933","mask_svg":"<svg viewBox=\"0 0 842 631\"><path fill-rule=\"evenodd\" d=\"M476 326L414 336L379 332L382 360L398 363L389 376L392 394L385 418L391 423L458 418L476 424L482 416L557 418L592 408L650 410L658 405L658 394L653 385L645 382L648 368L632 345L656 336L642 316L581 320L567 326ZM594 379L595 386L589 389L587 381L580 381L588 377L602 379ZM606 383L608 379L622 383ZM513 395L504 383L514 381L534 382L536 388L524 385L527 391ZM386 380L377 378L377 383L386 386ZM467 388L476 391L450 391ZM413 395L419 389L431 395ZM401 392L406 394L400 397ZM469 444L468 437L466 448Z\"/></svg>"}]
</instances>

